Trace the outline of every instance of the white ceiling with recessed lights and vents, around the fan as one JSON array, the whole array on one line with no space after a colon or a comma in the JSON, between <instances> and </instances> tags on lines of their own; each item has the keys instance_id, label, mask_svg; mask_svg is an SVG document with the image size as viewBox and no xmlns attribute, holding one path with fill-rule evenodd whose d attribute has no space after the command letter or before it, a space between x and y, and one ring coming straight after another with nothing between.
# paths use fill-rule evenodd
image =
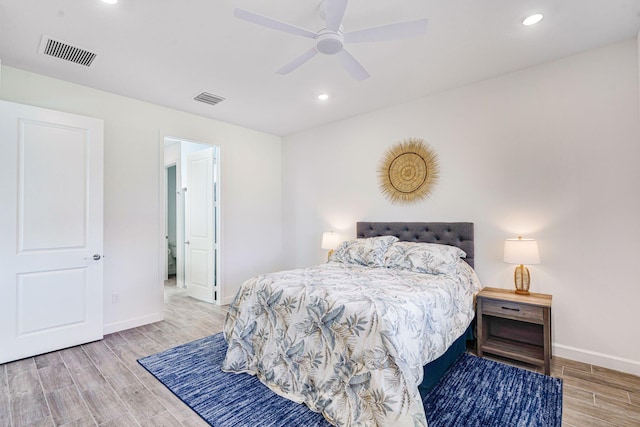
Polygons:
<instances>
[{"instance_id":1,"label":"white ceiling with recessed lights and vents, around the fan","mask_svg":"<svg viewBox=\"0 0 640 427\"><path fill-rule=\"evenodd\" d=\"M429 19L415 39L347 45L371 77L331 56L275 70L313 40L233 17L235 7L312 31L320 0L0 0L3 65L287 135L635 37L640 0L350 0L344 30ZM521 20L541 12L544 20ZM46 34L100 54L91 68L38 53ZM223 96L210 106L200 92ZM316 95L328 92L329 101Z\"/></svg>"}]
</instances>

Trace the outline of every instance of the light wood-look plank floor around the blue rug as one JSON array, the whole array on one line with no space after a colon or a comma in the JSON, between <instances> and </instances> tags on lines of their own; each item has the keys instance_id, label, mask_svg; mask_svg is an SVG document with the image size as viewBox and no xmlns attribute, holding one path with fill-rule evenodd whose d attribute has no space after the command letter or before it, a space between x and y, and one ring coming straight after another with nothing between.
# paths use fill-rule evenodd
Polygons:
<instances>
[{"instance_id":1,"label":"light wood-look plank floor around the blue rug","mask_svg":"<svg viewBox=\"0 0 640 427\"><path fill-rule=\"evenodd\" d=\"M136 360L221 331L225 309L172 282L165 301L162 322L0 365L0 426L206 426ZM552 375L564 380L563 426L640 426L640 377L561 358Z\"/></svg>"}]
</instances>

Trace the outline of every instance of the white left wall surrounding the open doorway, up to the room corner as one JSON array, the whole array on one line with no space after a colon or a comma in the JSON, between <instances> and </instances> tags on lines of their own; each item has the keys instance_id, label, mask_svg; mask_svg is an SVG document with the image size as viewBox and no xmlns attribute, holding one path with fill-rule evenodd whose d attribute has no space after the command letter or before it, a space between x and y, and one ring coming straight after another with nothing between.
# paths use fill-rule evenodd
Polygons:
<instances>
[{"instance_id":1,"label":"white left wall surrounding the open doorway, up to the room corner","mask_svg":"<svg viewBox=\"0 0 640 427\"><path fill-rule=\"evenodd\" d=\"M252 275L281 268L279 137L6 66L0 99L104 119L106 333L162 316L164 136L220 147L223 299Z\"/></svg>"}]
</instances>

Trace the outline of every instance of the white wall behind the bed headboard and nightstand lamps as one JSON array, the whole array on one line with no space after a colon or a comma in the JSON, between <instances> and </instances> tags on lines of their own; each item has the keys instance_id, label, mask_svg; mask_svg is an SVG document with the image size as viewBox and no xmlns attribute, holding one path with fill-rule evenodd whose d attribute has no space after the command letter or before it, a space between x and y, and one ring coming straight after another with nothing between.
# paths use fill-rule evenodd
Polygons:
<instances>
[{"instance_id":1,"label":"white wall behind the bed headboard and nightstand lamps","mask_svg":"<svg viewBox=\"0 0 640 427\"><path fill-rule=\"evenodd\" d=\"M322 262L322 231L353 238L359 220L472 221L484 285L512 288L504 239L533 237L532 291L553 294L554 354L640 374L639 116L628 40L290 135L287 267ZM378 163L410 137L438 152L440 182L426 201L392 205Z\"/></svg>"}]
</instances>

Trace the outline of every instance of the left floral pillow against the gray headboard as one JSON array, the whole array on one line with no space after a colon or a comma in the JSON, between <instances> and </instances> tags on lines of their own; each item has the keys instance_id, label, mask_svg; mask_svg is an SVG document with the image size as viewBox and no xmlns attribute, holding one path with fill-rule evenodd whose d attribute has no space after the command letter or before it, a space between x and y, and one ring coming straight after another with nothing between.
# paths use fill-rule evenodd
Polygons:
<instances>
[{"instance_id":1,"label":"left floral pillow against the gray headboard","mask_svg":"<svg viewBox=\"0 0 640 427\"><path fill-rule=\"evenodd\" d=\"M387 248L397 241L398 238L395 236L347 240L338 245L329 257L329 261L384 267L384 254Z\"/></svg>"}]
</instances>

